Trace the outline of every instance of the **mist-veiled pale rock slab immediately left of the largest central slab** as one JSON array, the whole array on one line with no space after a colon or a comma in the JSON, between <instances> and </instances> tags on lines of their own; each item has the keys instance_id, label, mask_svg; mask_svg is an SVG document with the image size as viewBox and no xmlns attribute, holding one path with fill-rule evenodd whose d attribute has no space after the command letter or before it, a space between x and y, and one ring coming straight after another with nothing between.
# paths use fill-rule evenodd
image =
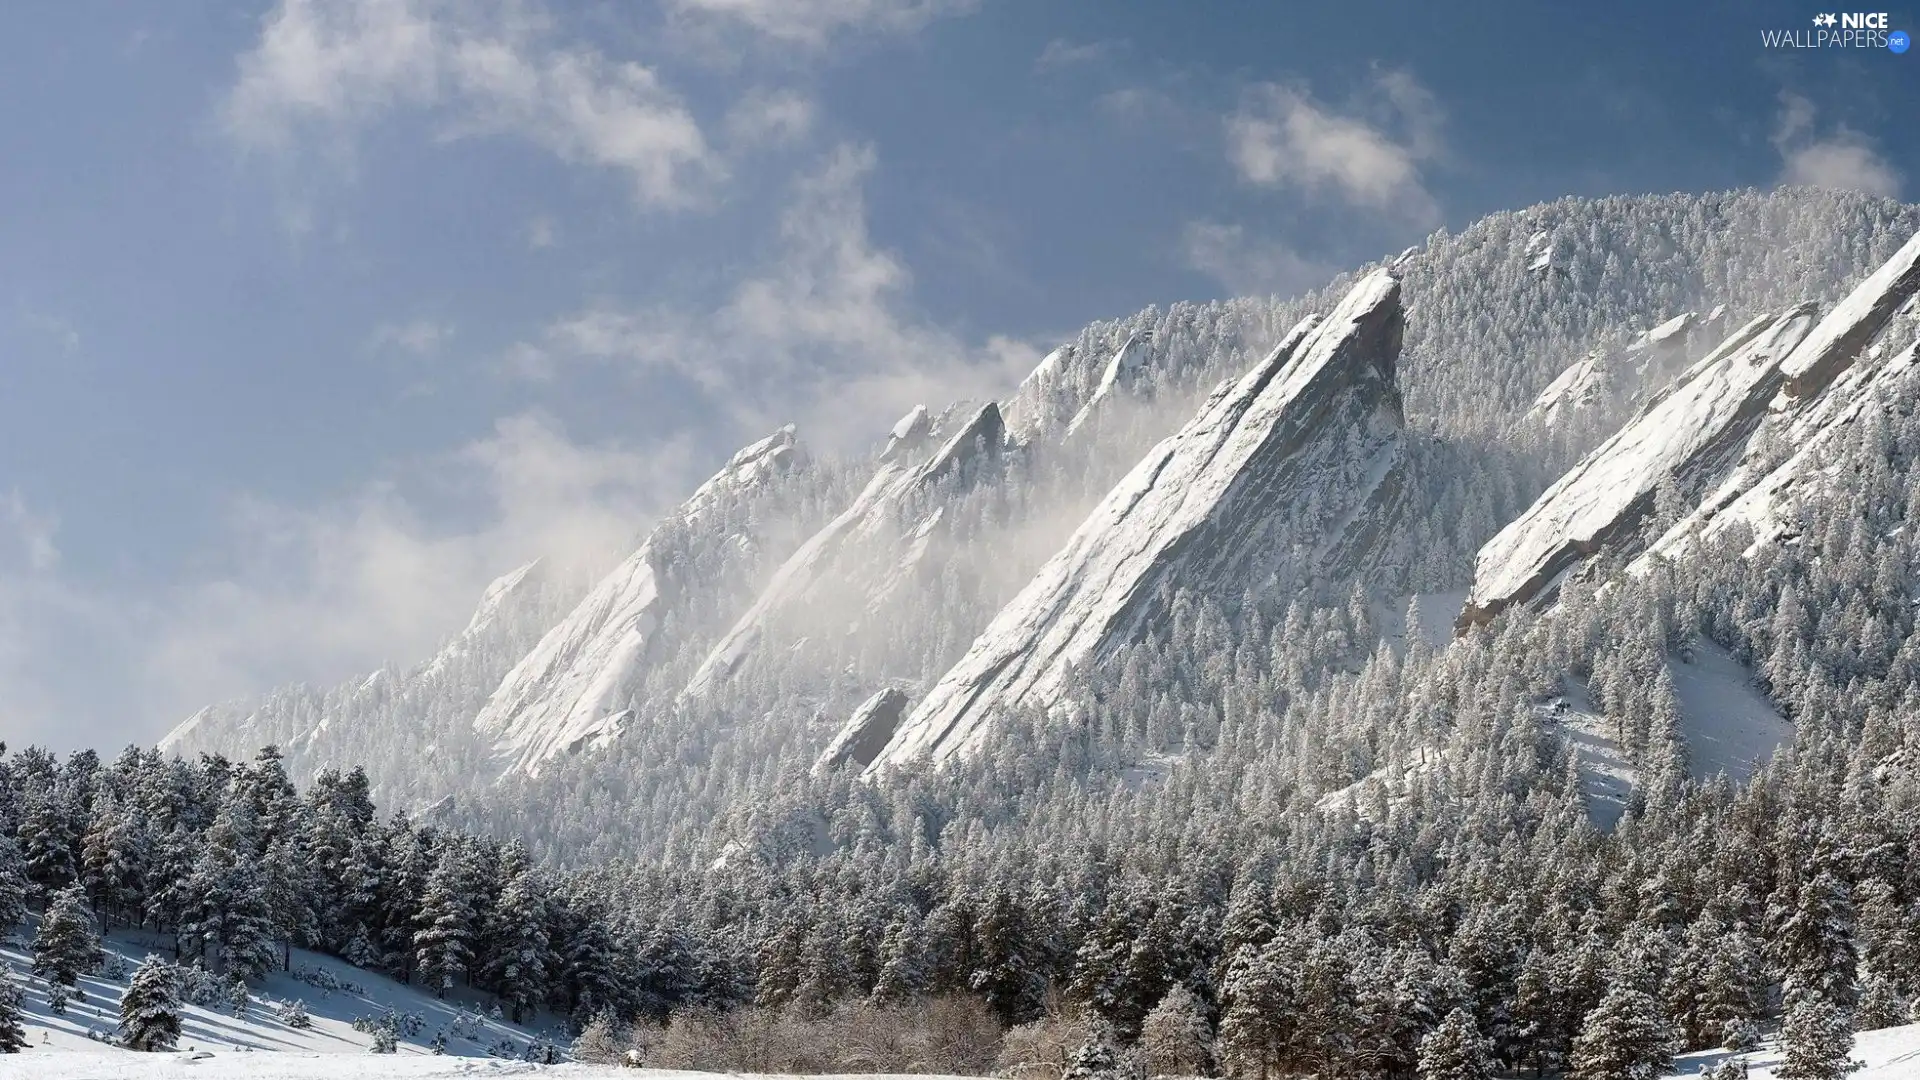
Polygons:
<instances>
[{"instance_id":1,"label":"mist-veiled pale rock slab immediately left of the largest central slab","mask_svg":"<svg viewBox=\"0 0 1920 1080\"><path fill-rule=\"evenodd\" d=\"M912 413L910 417L912 419ZM902 427L906 421L902 421ZM914 461L912 448L924 446L931 427L920 425L922 442L895 440L860 496L839 517L810 536L774 573L774 578L712 648L687 682L682 698L710 694L760 648L766 632L783 621L828 628L835 613L868 611L899 588L925 555L927 540L939 527L939 507L924 509L902 528L900 511L918 509L918 496L941 482L970 475L979 457L996 457L1006 446L1000 409L993 402L968 417L931 457ZM874 550L885 557L874 557ZM870 561L870 557L874 557ZM854 601L849 607L849 600Z\"/></svg>"}]
</instances>

